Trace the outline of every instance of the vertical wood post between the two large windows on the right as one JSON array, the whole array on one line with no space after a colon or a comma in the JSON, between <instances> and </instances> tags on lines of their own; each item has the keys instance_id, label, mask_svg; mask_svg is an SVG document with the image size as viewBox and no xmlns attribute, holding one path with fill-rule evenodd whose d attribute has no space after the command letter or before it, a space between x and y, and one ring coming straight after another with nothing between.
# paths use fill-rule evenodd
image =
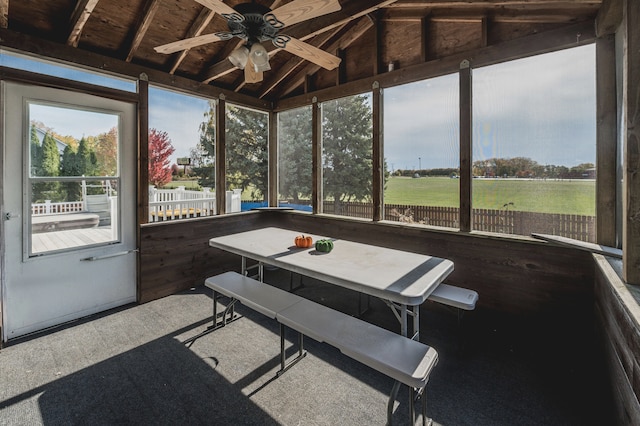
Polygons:
<instances>
[{"instance_id":1,"label":"vertical wood post between the two large windows on the right","mask_svg":"<svg viewBox=\"0 0 640 426\"><path fill-rule=\"evenodd\" d=\"M472 82L471 64L460 63L460 230L471 231Z\"/></svg>"}]
</instances>

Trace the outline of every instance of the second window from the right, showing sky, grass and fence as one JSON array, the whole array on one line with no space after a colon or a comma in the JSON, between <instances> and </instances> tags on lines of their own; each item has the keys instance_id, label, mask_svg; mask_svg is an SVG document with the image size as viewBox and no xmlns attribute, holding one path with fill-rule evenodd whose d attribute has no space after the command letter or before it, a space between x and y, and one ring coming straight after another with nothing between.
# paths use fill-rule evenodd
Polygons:
<instances>
[{"instance_id":1,"label":"second window from the right, showing sky, grass and fence","mask_svg":"<svg viewBox=\"0 0 640 426\"><path fill-rule=\"evenodd\" d=\"M385 219L457 228L458 75L384 91Z\"/></svg>"}]
</instances>

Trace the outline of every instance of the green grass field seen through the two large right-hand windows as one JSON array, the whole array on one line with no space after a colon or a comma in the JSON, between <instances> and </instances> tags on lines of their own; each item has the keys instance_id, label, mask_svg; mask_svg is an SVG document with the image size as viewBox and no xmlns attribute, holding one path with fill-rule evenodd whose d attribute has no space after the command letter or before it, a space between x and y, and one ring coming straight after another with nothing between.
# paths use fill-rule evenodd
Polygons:
<instances>
[{"instance_id":1,"label":"green grass field seen through the two large right-hand windows","mask_svg":"<svg viewBox=\"0 0 640 426\"><path fill-rule=\"evenodd\" d=\"M387 204L458 207L459 179L392 177ZM473 207L595 216L595 181L474 179Z\"/></svg>"}]
</instances>

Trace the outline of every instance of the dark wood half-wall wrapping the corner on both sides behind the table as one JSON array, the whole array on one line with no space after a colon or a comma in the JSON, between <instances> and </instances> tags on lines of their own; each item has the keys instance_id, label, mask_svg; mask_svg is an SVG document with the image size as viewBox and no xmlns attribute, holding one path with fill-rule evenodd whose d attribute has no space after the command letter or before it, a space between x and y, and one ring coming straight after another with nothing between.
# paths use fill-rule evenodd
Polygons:
<instances>
[{"instance_id":1,"label":"dark wood half-wall wrapping the corner on both sides behind the table","mask_svg":"<svg viewBox=\"0 0 640 426\"><path fill-rule=\"evenodd\" d=\"M239 258L208 247L211 237L263 226L280 226L454 261L447 282L480 294L474 315L511 336L592 342L594 267L587 252L527 238L447 232L388 222L360 221L286 211L222 215L141 229L141 302L202 284Z\"/></svg>"}]
</instances>

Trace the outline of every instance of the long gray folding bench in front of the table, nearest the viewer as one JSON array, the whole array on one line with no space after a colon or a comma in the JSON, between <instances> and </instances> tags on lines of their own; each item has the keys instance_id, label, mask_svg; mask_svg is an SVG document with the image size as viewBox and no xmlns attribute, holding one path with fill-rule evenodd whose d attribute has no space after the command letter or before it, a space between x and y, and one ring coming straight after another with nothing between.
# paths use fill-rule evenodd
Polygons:
<instances>
[{"instance_id":1,"label":"long gray folding bench in front of the table, nearest the viewer","mask_svg":"<svg viewBox=\"0 0 640 426\"><path fill-rule=\"evenodd\" d=\"M400 383L411 389L409 409L412 419L415 419L416 397L421 396L422 421L425 424L425 387L431 370L438 362L438 353L432 347L237 272L207 278L205 286L214 292L214 328L227 324L227 314L231 309L233 316L236 301L280 323L281 370L278 375L304 357L302 336L308 336L334 346L344 355L396 381L387 404L388 424L392 422L393 402ZM217 293L231 298L220 324ZM299 333L299 355L288 366L285 366L285 326Z\"/></svg>"}]
</instances>

